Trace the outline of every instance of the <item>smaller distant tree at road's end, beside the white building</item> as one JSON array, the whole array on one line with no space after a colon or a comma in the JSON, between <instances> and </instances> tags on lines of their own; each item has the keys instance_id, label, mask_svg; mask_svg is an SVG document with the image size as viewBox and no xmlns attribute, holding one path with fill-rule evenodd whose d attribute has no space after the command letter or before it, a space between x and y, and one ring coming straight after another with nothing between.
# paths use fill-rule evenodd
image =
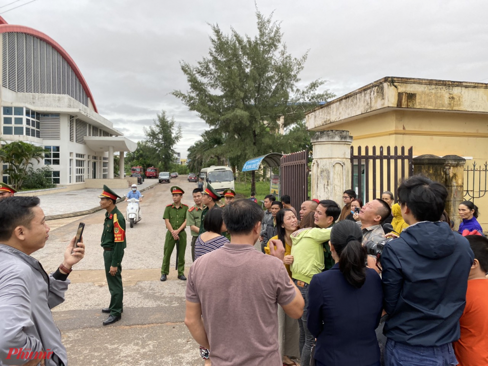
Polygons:
<instances>
[{"instance_id":1,"label":"smaller distant tree at road's end, beside the white building","mask_svg":"<svg viewBox=\"0 0 488 366\"><path fill-rule=\"evenodd\" d=\"M154 125L144 127L146 135L145 143L154 152L154 160L157 161L163 170L168 171L175 160L175 146L182 138L182 127L176 125L174 118L168 119L166 112L158 113L158 118L154 120Z\"/></svg>"}]
</instances>

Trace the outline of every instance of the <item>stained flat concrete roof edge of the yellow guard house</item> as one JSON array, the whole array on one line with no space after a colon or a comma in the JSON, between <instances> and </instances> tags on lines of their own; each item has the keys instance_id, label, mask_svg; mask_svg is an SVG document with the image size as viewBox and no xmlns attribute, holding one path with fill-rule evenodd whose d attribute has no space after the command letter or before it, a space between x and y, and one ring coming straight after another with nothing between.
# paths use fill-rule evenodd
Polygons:
<instances>
[{"instance_id":1,"label":"stained flat concrete roof edge of the yellow guard house","mask_svg":"<svg viewBox=\"0 0 488 366\"><path fill-rule=\"evenodd\" d=\"M488 114L488 84L386 77L317 107L306 124L321 130L395 109Z\"/></svg>"}]
</instances>

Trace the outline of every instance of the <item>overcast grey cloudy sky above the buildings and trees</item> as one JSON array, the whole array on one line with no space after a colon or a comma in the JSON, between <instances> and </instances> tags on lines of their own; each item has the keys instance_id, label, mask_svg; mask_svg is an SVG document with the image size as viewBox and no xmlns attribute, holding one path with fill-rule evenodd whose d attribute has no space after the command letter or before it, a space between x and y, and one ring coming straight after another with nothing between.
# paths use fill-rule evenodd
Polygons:
<instances>
[{"instance_id":1,"label":"overcast grey cloudy sky above the buildings and trees","mask_svg":"<svg viewBox=\"0 0 488 366\"><path fill-rule=\"evenodd\" d=\"M99 113L128 138L165 110L181 123L182 157L206 124L169 95L186 90L179 61L208 53L210 28L255 34L254 0L0 0L10 24L35 28L71 55ZM8 5L9 3L12 3ZM257 0L282 21L288 51L309 50L303 83L337 96L385 76L488 82L486 0Z\"/></svg>"}]
</instances>

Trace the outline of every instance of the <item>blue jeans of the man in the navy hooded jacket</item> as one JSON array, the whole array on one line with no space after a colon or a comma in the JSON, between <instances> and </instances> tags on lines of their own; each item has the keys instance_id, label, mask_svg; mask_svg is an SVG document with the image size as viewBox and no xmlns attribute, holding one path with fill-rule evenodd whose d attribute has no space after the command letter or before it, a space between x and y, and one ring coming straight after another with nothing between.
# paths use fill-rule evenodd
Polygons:
<instances>
[{"instance_id":1,"label":"blue jeans of the man in the navy hooded jacket","mask_svg":"<svg viewBox=\"0 0 488 366\"><path fill-rule=\"evenodd\" d=\"M409 346L388 338L385 366L452 366L457 365L451 343L442 346Z\"/></svg>"}]
</instances>

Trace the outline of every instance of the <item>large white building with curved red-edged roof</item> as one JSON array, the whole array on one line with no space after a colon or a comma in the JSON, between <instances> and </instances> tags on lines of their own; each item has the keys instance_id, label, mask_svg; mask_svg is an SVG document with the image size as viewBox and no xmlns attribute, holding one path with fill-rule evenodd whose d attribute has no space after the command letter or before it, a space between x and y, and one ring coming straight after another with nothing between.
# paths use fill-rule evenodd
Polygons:
<instances>
[{"instance_id":1,"label":"large white building with curved red-edged roof","mask_svg":"<svg viewBox=\"0 0 488 366\"><path fill-rule=\"evenodd\" d=\"M98 114L73 59L53 39L0 17L0 138L44 146L52 179L61 185L113 179L113 154L134 151L112 122ZM3 165L2 170L6 168ZM7 182L8 176L2 175ZM123 179L123 173L121 174Z\"/></svg>"}]
</instances>

